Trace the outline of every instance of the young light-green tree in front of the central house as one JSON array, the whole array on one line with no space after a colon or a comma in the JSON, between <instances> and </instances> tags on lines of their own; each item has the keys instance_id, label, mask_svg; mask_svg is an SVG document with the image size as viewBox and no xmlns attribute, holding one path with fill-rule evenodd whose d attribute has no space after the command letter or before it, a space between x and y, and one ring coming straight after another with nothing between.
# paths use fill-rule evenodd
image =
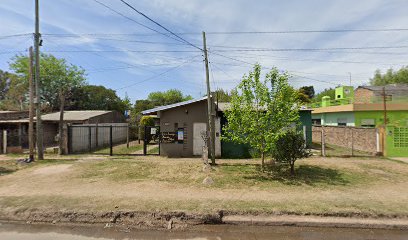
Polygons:
<instances>
[{"instance_id":1,"label":"young light-green tree in front of the central house","mask_svg":"<svg viewBox=\"0 0 408 240\"><path fill-rule=\"evenodd\" d=\"M232 92L231 107L225 112L225 137L257 150L262 166L284 129L299 120L297 91L288 79L288 73L274 68L261 81L261 66L255 65Z\"/></svg>"}]
</instances>

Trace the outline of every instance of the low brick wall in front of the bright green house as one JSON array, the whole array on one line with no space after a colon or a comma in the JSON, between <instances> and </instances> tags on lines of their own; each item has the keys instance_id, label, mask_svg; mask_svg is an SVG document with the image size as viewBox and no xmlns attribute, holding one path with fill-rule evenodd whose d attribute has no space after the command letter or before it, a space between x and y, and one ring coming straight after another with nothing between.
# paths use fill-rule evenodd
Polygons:
<instances>
[{"instance_id":1,"label":"low brick wall in front of the bright green house","mask_svg":"<svg viewBox=\"0 0 408 240\"><path fill-rule=\"evenodd\" d=\"M321 126L313 126L313 142L321 143ZM375 128L357 128L343 126L324 126L325 142L340 147L356 150L377 152L377 135Z\"/></svg>"}]
</instances>

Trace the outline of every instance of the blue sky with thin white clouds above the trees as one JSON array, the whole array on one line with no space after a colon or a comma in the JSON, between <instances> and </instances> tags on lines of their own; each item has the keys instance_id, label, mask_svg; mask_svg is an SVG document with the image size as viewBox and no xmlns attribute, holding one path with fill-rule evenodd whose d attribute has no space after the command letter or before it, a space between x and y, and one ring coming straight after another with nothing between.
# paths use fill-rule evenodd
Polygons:
<instances>
[{"instance_id":1,"label":"blue sky with thin white clouds above the trees","mask_svg":"<svg viewBox=\"0 0 408 240\"><path fill-rule=\"evenodd\" d=\"M120 0L98 0L134 21L163 31ZM349 83L367 83L378 68L407 64L408 31L214 34L332 29L408 28L406 0L128 0L187 41L202 46L206 31L212 88L233 88L250 63L276 66L294 75L295 87L316 90ZM152 91L180 89L200 97L206 91L202 53L157 34L94 0L40 0L42 51L82 66L89 84L115 89L133 101ZM10 58L26 53L34 31L34 0L0 1L0 69ZM212 34L211 34L212 33ZM298 49L402 46L399 49L332 51L236 51L244 48ZM233 51L231 51L233 50ZM221 54L223 56L219 56ZM232 60L231 58L235 59ZM238 61L237 61L238 60Z\"/></svg>"}]
</instances>

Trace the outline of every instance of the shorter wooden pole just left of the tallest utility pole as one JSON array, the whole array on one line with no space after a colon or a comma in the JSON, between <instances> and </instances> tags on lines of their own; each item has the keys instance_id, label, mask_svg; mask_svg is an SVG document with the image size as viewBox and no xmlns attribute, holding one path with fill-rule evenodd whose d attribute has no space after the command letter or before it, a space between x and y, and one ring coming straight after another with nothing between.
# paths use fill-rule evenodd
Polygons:
<instances>
[{"instance_id":1,"label":"shorter wooden pole just left of the tallest utility pole","mask_svg":"<svg viewBox=\"0 0 408 240\"><path fill-rule=\"evenodd\" d=\"M33 47L30 47L30 60L28 64L28 84L30 88L30 111L28 123L28 145L30 149L30 161L34 161L34 84L33 84Z\"/></svg>"}]
</instances>

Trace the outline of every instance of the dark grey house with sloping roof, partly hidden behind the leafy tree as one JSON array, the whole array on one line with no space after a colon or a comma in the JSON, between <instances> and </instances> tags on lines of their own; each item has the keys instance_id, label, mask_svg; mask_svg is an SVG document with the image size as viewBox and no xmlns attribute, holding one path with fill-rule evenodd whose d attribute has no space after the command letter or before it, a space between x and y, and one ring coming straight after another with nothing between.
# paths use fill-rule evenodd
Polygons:
<instances>
[{"instance_id":1,"label":"dark grey house with sloping roof, partly hidden behind the leafy tree","mask_svg":"<svg viewBox=\"0 0 408 240\"><path fill-rule=\"evenodd\" d=\"M215 119L215 153L217 157L249 157L249 146L221 140L222 127L227 123L224 111L228 103L214 104ZM160 154L168 157L201 156L205 145L202 134L207 131L207 98L161 106L142 112L143 115L157 115L159 119ZM301 121L311 132L311 110L300 111ZM177 133L177 134L176 134ZM311 134L308 136L311 142Z\"/></svg>"}]
</instances>

